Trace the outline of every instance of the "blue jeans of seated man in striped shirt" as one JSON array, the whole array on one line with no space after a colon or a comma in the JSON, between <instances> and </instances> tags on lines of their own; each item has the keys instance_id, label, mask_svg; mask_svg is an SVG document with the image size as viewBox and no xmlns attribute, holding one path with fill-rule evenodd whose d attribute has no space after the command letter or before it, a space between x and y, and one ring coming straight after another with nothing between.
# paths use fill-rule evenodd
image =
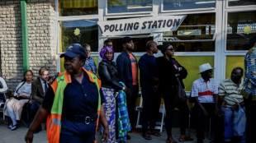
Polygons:
<instances>
[{"instance_id":1,"label":"blue jeans of seated man in striped shirt","mask_svg":"<svg viewBox=\"0 0 256 143\"><path fill-rule=\"evenodd\" d=\"M242 107L245 109L244 107ZM233 138L233 118L234 118L234 109L230 107L221 107L221 111L224 113L224 141L232 141ZM246 133L242 137L241 142L245 142Z\"/></svg>"}]
</instances>

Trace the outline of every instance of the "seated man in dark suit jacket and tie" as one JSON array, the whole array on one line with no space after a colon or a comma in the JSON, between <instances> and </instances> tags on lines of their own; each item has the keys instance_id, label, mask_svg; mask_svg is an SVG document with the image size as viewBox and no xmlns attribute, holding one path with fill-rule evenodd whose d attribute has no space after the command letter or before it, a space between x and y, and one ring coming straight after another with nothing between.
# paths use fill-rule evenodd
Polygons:
<instances>
[{"instance_id":1,"label":"seated man in dark suit jacket and tie","mask_svg":"<svg viewBox=\"0 0 256 143\"><path fill-rule=\"evenodd\" d=\"M47 81L49 80L49 69L47 67L40 67L39 77L36 80L32 81L31 85L31 96L32 96L32 105L31 105L31 116L35 118L40 105L43 103L45 93L48 90L49 85ZM38 127L35 133L42 130L42 127Z\"/></svg>"}]
</instances>

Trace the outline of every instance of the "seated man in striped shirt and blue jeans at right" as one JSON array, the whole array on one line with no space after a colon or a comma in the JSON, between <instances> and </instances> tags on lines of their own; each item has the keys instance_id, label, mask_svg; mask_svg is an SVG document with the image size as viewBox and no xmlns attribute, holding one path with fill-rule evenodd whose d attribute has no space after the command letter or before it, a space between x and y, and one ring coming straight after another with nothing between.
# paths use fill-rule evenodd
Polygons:
<instances>
[{"instance_id":1,"label":"seated man in striped shirt and blue jeans at right","mask_svg":"<svg viewBox=\"0 0 256 143\"><path fill-rule=\"evenodd\" d=\"M233 118L234 111L239 109L239 105L244 109L243 95L239 93L243 88L243 72L241 67L235 67L231 72L231 77L222 81L219 86L220 101L223 101L221 111L224 113L225 142L240 140L240 137L233 137ZM244 139L245 136L242 141L238 142L244 142Z\"/></svg>"}]
</instances>

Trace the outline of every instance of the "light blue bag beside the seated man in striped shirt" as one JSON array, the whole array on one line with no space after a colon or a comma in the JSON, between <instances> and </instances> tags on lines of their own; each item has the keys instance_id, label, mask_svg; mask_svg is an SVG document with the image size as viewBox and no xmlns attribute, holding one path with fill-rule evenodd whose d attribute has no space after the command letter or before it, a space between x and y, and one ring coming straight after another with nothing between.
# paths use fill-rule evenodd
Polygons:
<instances>
[{"instance_id":1,"label":"light blue bag beside the seated man in striped shirt","mask_svg":"<svg viewBox=\"0 0 256 143\"><path fill-rule=\"evenodd\" d=\"M246 127L246 117L244 108L242 108L240 105L239 110L234 111L233 127L234 136L244 136L244 131Z\"/></svg>"}]
</instances>

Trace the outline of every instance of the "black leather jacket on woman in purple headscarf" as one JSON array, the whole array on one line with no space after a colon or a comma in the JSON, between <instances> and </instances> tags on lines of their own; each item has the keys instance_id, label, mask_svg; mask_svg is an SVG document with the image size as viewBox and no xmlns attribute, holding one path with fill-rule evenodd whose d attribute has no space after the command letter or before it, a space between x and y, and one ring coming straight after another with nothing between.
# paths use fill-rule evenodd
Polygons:
<instances>
[{"instance_id":1,"label":"black leather jacket on woman in purple headscarf","mask_svg":"<svg viewBox=\"0 0 256 143\"><path fill-rule=\"evenodd\" d=\"M97 71L102 81L102 87L111 88L116 91L123 88L123 85L119 83L120 79L118 77L116 62L102 61L99 63Z\"/></svg>"}]
</instances>

